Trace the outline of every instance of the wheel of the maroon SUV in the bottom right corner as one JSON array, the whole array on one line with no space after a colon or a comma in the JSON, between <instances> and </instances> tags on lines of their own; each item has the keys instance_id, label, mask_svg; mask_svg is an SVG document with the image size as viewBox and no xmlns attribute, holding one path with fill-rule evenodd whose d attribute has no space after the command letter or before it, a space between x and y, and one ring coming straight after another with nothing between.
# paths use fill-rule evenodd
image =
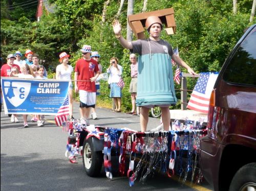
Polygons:
<instances>
[{"instance_id":1,"label":"wheel of the maroon SUV in the bottom right corner","mask_svg":"<svg viewBox=\"0 0 256 191\"><path fill-rule=\"evenodd\" d=\"M256 163L249 163L242 166L238 172L234 175L229 191L238 190L253 190L256 189Z\"/></svg>"}]
</instances>

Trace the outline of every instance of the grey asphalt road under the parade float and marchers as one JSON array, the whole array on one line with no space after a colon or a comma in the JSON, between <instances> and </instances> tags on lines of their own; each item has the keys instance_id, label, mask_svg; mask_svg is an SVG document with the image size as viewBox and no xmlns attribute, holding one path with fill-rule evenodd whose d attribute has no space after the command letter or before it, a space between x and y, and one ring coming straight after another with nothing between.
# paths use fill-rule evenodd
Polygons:
<instances>
[{"instance_id":1,"label":"grey asphalt road under the parade float and marchers","mask_svg":"<svg viewBox=\"0 0 256 191\"><path fill-rule=\"evenodd\" d=\"M78 104L74 107L74 117L78 118ZM131 128L139 130L139 117L125 113L111 112L97 108L98 120L91 124ZM31 117L29 116L29 119ZM56 127L53 116L46 116L46 125L37 127L29 123L10 123L10 117L1 112L1 190L211 190L203 182L201 185L178 181L177 177L167 178L155 174L144 184L135 181L129 186L127 177L114 176L112 180L102 174L92 178L83 169L82 158L72 164L65 157L67 133ZM19 116L22 121L22 116ZM159 119L150 118L148 129L159 125Z\"/></svg>"}]
</instances>

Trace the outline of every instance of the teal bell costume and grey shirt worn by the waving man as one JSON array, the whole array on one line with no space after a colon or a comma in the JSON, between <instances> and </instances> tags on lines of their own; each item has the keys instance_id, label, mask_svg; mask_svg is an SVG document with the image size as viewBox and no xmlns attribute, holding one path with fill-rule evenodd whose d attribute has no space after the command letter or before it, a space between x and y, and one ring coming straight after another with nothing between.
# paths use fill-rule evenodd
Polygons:
<instances>
[{"instance_id":1,"label":"teal bell costume and grey shirt worn by the waving man","mask_svg":"<svg viewBox=\"0 0 256 191\"><path fill-rule=\"evenodd\" d=\"M170 106L177 103L172 70L172 46L151 39L132 42L138 57L137 106Z\"/></svg>"}]
</instances>

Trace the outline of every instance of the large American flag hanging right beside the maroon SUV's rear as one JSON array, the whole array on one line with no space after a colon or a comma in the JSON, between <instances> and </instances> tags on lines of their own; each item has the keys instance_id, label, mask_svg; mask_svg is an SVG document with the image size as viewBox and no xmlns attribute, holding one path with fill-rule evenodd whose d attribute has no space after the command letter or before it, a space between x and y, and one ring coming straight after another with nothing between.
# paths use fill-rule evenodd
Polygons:
<instances>
[{"instance_id":1,"label":"large American flag hanging right beside the maroon SUV's rear","mask_svg":"<svg viewBox=\"0 0 256 191\"><path fill-rule=\"evenodd\" d=\"M210 94L217 77L218 73L200 73L200 77L189 99L188 109L208 113Z\"/></svg>"}]
</instances>

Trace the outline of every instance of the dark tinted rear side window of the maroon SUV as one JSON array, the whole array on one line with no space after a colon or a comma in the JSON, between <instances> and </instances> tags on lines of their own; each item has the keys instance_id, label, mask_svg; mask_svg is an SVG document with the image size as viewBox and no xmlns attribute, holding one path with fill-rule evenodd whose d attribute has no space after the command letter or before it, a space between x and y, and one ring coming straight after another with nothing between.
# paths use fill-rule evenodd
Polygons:
<instances>
[{"instance_id":1,"label":"dark tinted rear side window of the maroon SUV","mask_svg":"<svg viewBox=\"0 0 256 191\"><path fill-rule=\"evenodd\" d=\"M246 36L228 63L226 82L256 86L256 27Z\"/></svg>"}]
</instances>

